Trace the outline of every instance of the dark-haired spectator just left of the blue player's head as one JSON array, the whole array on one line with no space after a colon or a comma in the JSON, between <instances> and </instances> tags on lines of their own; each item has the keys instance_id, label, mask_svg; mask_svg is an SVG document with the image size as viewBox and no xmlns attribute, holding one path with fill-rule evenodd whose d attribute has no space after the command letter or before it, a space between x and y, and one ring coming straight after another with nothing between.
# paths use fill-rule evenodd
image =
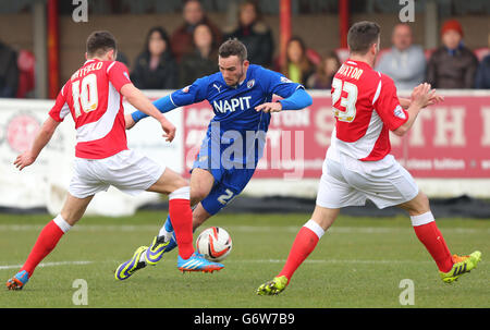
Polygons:
<instances>
[{"instance_id":1,"label":"dark-haired spectator just left of the blue player's head","mask_svg":"<svg viewBox=\"0 0 490 330\"><path fill-rule=\"evenodd\" d=\"M182 58L181 86L187 86L197 78L215 73L218 70L218 45L212 38L212 30L207 24L198 24L194 28L195 50Z\"/></svg>"}]
</instances>

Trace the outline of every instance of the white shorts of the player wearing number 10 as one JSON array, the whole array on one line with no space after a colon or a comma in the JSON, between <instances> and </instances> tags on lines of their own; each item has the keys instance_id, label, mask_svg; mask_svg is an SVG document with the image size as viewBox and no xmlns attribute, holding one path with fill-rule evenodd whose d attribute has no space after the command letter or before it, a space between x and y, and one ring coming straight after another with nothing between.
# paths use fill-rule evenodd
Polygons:
<instances>
[{"instance_id":1,"label":"white shorts of the player wearing number 10","mask_svg":"<svg viewBox=\"0 0 490 330\"><path fill-rule=\"evenodd\" d=\"M75 158L69 193L85 198L106 192L112 185L126 194L137 195L156 183L164 170L164 166L134 150L123 150L103 159Z\"/></svg>"}]
</instances>

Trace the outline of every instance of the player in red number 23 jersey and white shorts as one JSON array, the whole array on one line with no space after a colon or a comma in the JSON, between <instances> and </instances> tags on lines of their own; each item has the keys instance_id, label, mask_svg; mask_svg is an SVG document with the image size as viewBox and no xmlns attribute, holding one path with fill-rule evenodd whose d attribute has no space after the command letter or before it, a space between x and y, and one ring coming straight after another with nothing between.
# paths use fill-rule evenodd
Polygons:
<instances>
[{"instance_id":1,"label":"player in red number 23 jersey and white shorts","mask_svg":"<svg viewBox=\"0 0 490 330\"><path fill-rule=\"evenodd\" d=\"M375 70L380 28L372 22L354 24L347 34L350 58L332 82L335 127L323 162L316 208L297 233L283 269L257 290L259 295L282 292L341 208L365 205L399 206L411 217L418 240L439 268L441 279L457 280L474 269L480 252L452 256L430 211L429 200L412 175L390 155L389 131L403 136L419 111L441 101L429 84L414 88L411 99L399 99L393 81Z\"/></svg>"}]
</instances>

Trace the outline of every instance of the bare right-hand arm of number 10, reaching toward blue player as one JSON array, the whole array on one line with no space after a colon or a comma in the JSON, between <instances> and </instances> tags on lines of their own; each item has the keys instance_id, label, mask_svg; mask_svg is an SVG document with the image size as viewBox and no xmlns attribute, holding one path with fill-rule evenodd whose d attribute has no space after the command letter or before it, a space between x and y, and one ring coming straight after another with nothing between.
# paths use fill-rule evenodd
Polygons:
<instances>
[{"instance_id":1,"label":"bare right-hand arm of number 10, reaching toward blue player","mask_svg":"<svg viewBox=\"0 0 490 330\"><path fill-rule=\"evenodd\" d=\"M173 140L173 138L175 137L175 126L167 120L167 118L151 103L151 101L143 94L142 90L136 88L133 84L126 84L121 88L121 94L133 107L158 120L161 124L161 127L166 132L166 134L163 134L163 137L167 137L168 142ZM131 118L131 114L126 114L124 117L126 121L126 130L128 130L128 117ZM133 118L131 118L131 121L133 121L134 125Z\"/></svg>"}]
</instances>

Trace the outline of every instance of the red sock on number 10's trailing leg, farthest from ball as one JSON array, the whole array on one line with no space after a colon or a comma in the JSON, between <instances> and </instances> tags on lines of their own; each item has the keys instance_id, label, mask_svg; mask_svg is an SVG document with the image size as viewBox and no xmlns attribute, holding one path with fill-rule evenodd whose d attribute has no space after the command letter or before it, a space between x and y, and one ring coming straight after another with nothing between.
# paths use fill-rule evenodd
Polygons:
<instances>
[{"instance_id":1,"label":"red sock on number 10's trailing leg, farthest from ball","mask_svg":"<svg viewBox=\"0 0 490 330\"><path fill-rule=\"evenodd\" d=\"M57 218L58 220L58 218ZM60 239L63 236L65 231L70 229L70 225L65 223L66 229L63 231L59 224L57 224L57 220L50 221L48 224L39 233L36 243L34 244L30 254L27 257L22 270L28 272L29 278L33 276L34 269L39 265L39 262L46 258L47 255L57 246ZM64 220L62 220L64 221Z\"/></svg>"}]
</instances>

